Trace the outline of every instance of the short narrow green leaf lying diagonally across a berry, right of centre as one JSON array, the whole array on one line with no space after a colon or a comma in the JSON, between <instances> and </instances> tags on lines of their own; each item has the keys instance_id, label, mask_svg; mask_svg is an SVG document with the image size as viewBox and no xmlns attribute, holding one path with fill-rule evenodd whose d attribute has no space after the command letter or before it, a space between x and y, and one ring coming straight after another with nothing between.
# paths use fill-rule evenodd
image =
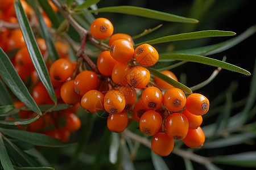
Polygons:
<instances>
[{"instance_id":1,"label":"short narrow green leaf lying diagonally across a berry, right of centre","mask_svg":"<svg viewBox=\"0 0 256 170\"><path fill-rule=\"evenodd\" d=\"M192 91L190 90L190 88L188 88L187 86L185 86L184 84L177 82L176 80L170 78L167 75L164 75L163 73L160 73L160 71L155 70L153 68L149 68L149 71L152 75L157 76L158 78L164 80L165 82L171 84L174 87L180 88L181 90L183 90L184 92L187 92L188 94L192 94Z\"/></svg>"}]
</instances>

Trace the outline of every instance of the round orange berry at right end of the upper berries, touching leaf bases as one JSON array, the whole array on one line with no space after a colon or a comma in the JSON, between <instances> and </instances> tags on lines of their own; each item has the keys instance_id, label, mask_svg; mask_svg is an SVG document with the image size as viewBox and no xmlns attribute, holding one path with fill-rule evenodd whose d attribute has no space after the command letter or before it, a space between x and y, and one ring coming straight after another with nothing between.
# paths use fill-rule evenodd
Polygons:
<instances>
[{"instance_id":1,"label":"round orange berry at right end of the upper berries, touching leaf bases","mask_svg":"<svg viewBox=\"0 0 256 170\"><path fill-rule=\"evenodd\" d=\"M142 44L134 50L134 58L142 66L152 66L158 62L159 54L153 46Z\"/></svg>"}]
</instances>

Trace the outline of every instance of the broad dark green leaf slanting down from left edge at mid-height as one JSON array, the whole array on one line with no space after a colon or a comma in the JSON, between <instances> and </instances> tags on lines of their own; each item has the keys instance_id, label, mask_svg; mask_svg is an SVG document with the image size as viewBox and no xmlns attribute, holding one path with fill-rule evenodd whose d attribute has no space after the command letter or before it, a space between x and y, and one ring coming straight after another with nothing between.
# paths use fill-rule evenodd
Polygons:
<instances>
[{"instance_id":1,"label":"broad dark green leaf slanting down from left edge at mid-height","mask_svg":"<svg viewBox=\"0 0 256 170\"><path fill-rule=\"evenodd\" d=\"M27 87L22 82L22 79L20 79L13 64L6 56L5 52L3 52L2 48L0 48L0 68L2 79L7 86L9 86L13 94L32 111L42 114L38 105L36 105L35 100L30 95L30 92L28 92Z\"/></svg>"}]
</instances>

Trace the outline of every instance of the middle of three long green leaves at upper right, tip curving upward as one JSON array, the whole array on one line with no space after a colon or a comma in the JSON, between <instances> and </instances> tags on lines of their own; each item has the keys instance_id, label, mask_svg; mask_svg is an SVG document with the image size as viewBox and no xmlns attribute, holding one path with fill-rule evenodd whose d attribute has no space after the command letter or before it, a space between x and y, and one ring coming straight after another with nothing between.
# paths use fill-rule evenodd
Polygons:
<instances>
[{"instance_id":1,"label":"middle of three long green leaves at upper right, tip curving upward","mask_svg":"<svg viewBox=\"0 0 256 170\"><path fill-rule=\"evenodd\" d=\"M152 45L152 44L159 44L163 42L204 39L208 37L222 37L222 36L233 36L233 35L236 35L236 33L231 31L205 30L205 31L196 31L196 32L189 32L189 33L180 33L177 35L164 36L158 39L144 41L139 44L135 44L134 46L139 46L144 43Z\"/></svg>"}]
</instances>

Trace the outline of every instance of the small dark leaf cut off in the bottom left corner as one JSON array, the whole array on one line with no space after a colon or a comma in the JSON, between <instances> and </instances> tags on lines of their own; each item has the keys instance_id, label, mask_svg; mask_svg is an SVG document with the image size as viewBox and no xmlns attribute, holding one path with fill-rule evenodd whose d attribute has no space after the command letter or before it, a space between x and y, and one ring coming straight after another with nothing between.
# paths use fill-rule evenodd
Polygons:
<instances>
[{"instance_id":1,"label":"small dark leaf cut off in the bottom left corner","mask_svg":"<svg viewBox=\"0 0 256 170\"><path fill-rule=\"evenodd\" d=\"M12 170L13 164L11 163L11 160L9 158L9 155L7 153L5 144L3 143L2 134L0 133L0 162L2 164L3 169Z\"/></svg>"}]
</instances>

